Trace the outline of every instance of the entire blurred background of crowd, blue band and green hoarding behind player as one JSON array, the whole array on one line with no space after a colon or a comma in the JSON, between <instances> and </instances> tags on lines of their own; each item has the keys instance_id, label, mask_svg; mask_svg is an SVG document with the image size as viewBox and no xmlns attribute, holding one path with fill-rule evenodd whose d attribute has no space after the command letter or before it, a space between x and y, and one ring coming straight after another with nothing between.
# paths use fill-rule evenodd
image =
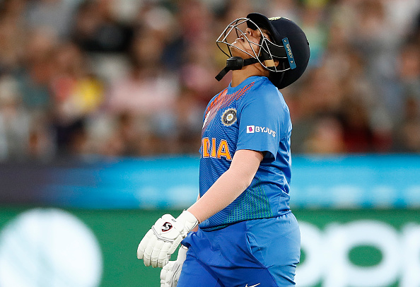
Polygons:
<instances>
[{"instance_id":1,"label":"entire blurred background of crowd, blue band and green hoarding behind player","mask_svg":"<svg viewBox=\"0 0 420 287\"><path fill-rule=\"evenodd\" d=\"M159 286L136 246L198 193L247 13L298 23L298 286L420 286L420 1L0 0L0 286Z\"/></svg>"}]
</instances>

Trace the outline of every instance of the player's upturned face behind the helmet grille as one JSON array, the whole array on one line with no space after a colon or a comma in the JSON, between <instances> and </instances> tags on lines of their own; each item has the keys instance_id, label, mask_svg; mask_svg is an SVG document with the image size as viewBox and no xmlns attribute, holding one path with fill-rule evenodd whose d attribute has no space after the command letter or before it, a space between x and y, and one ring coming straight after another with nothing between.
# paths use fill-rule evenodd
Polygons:
<instances>
[{"instance_id":1,"label":"player's upturned face behind the helmet grille","mask_svg":"<svg viewBox=\"0 0 420 287\"><path fill-rule=\"evenodd\" d=\"M269 38L269 33L267 30L261 29L261 31L262 35ZM255 54L259 53L259 46L257 44L259 43L259 40L261 40L261 32L259 32L258 29L252 30L251 28L247 28L245 30L245 35L240 35L240 37L238 37L235 42L232 43L232 56L238 56L242 57L243 59L247 59L250 57L250 55L254 55L254 52Z\"/></svg>"}]
</instances>

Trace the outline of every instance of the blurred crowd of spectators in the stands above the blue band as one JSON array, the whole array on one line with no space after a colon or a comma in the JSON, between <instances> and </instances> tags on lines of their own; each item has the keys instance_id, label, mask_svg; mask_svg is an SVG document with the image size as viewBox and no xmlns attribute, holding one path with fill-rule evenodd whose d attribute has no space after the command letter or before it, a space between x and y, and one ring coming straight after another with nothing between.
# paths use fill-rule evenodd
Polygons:
<instances>
[{"instance_id":1,"label":"blurred crowd of spectators in the stands above the blue band","mask_svg":"<svg viewBox=\"0 0 420 287\"><path fill-rule=\"evenodd\" d=\"M310 42L293 153L420 152L418 0L0 0L0 161L198 155L216 38L252 11Z\"/></svg>"}]
</instances>

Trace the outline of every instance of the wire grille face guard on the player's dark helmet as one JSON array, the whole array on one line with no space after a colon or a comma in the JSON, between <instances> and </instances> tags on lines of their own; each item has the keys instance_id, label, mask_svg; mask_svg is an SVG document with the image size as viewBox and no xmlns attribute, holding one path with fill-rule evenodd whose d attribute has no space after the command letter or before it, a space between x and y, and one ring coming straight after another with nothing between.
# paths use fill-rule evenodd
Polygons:
<instances>
[{"instance_id":1,"label":"wire grille face guard on the player's dark helmet","mask_svg":"<svg viewBox=\"0 0 420 287\"><path fill-rule=\"evenodd\" d=\"M261 33L262 37L258 43L252 42L247 37L245 30L249 27L255 27L256 29L253 30L259 30L259 33ZM240 37L248 42L252 53L247 52L233 44L235 39ZM223 30L221 35L218 37L216 44L217 47L228 57L233 57L231 49L239 49L245 54L248 54L250 57L257 59L259 64L264 66L264 68L268 71L281 72L292 69L291 66L282 67L281 65L276 66L276 64L274 64L274 59L287 59L284 45L276 45L274 42L269 40L269 38L265 37L262 28L259 28L259 26L250 18L238 18L235 21L232 21L232 23L227 25L225 30ZM259 49L256 51L253 45L259 47Z\"/></svg>"}]
</instances>

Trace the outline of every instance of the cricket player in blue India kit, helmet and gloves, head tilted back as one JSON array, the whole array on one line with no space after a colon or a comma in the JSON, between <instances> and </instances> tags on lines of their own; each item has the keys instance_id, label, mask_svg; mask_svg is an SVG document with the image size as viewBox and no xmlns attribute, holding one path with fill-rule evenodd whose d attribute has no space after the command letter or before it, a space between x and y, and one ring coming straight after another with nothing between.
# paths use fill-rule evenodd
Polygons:
<instances>
[{"instance_id":1,"label":"cricket player in blue India kit, helmet and gloves, head tilted back","mask_svg":"<svg viewBox=\"0 0 420 287\"><path fill-rule=\"evenodd\" d=\"M233 21L216 43L229 57L216 78L232 71L232 81L204 112L199 199L159 218L137 257L163 267L163 287L295 286L301 235L289 208L292 125L279 89L305 71L309 43L293 21L259 13Z\"/></svg>"}]
</instances>

